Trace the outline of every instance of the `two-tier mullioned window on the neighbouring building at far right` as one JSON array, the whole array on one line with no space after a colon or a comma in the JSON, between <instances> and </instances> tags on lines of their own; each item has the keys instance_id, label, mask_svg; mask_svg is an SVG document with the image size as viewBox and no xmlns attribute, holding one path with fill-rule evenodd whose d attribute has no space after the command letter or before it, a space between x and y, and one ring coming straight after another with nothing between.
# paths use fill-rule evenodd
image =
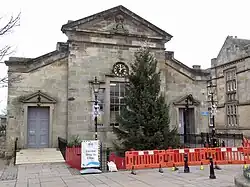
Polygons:
<instances>
[{"instance_id":1,"label":"two-tier mullioned window on the neighbouring building at far right","mask_svg":"<svg viewBox=\"0 0 250 187\"><path fill-rule=\"evenodd\" d=\"M237 126L237 81L236 69L230 69L226 72L226 116L228 126Z\"/></svg>"}]
</instances>

